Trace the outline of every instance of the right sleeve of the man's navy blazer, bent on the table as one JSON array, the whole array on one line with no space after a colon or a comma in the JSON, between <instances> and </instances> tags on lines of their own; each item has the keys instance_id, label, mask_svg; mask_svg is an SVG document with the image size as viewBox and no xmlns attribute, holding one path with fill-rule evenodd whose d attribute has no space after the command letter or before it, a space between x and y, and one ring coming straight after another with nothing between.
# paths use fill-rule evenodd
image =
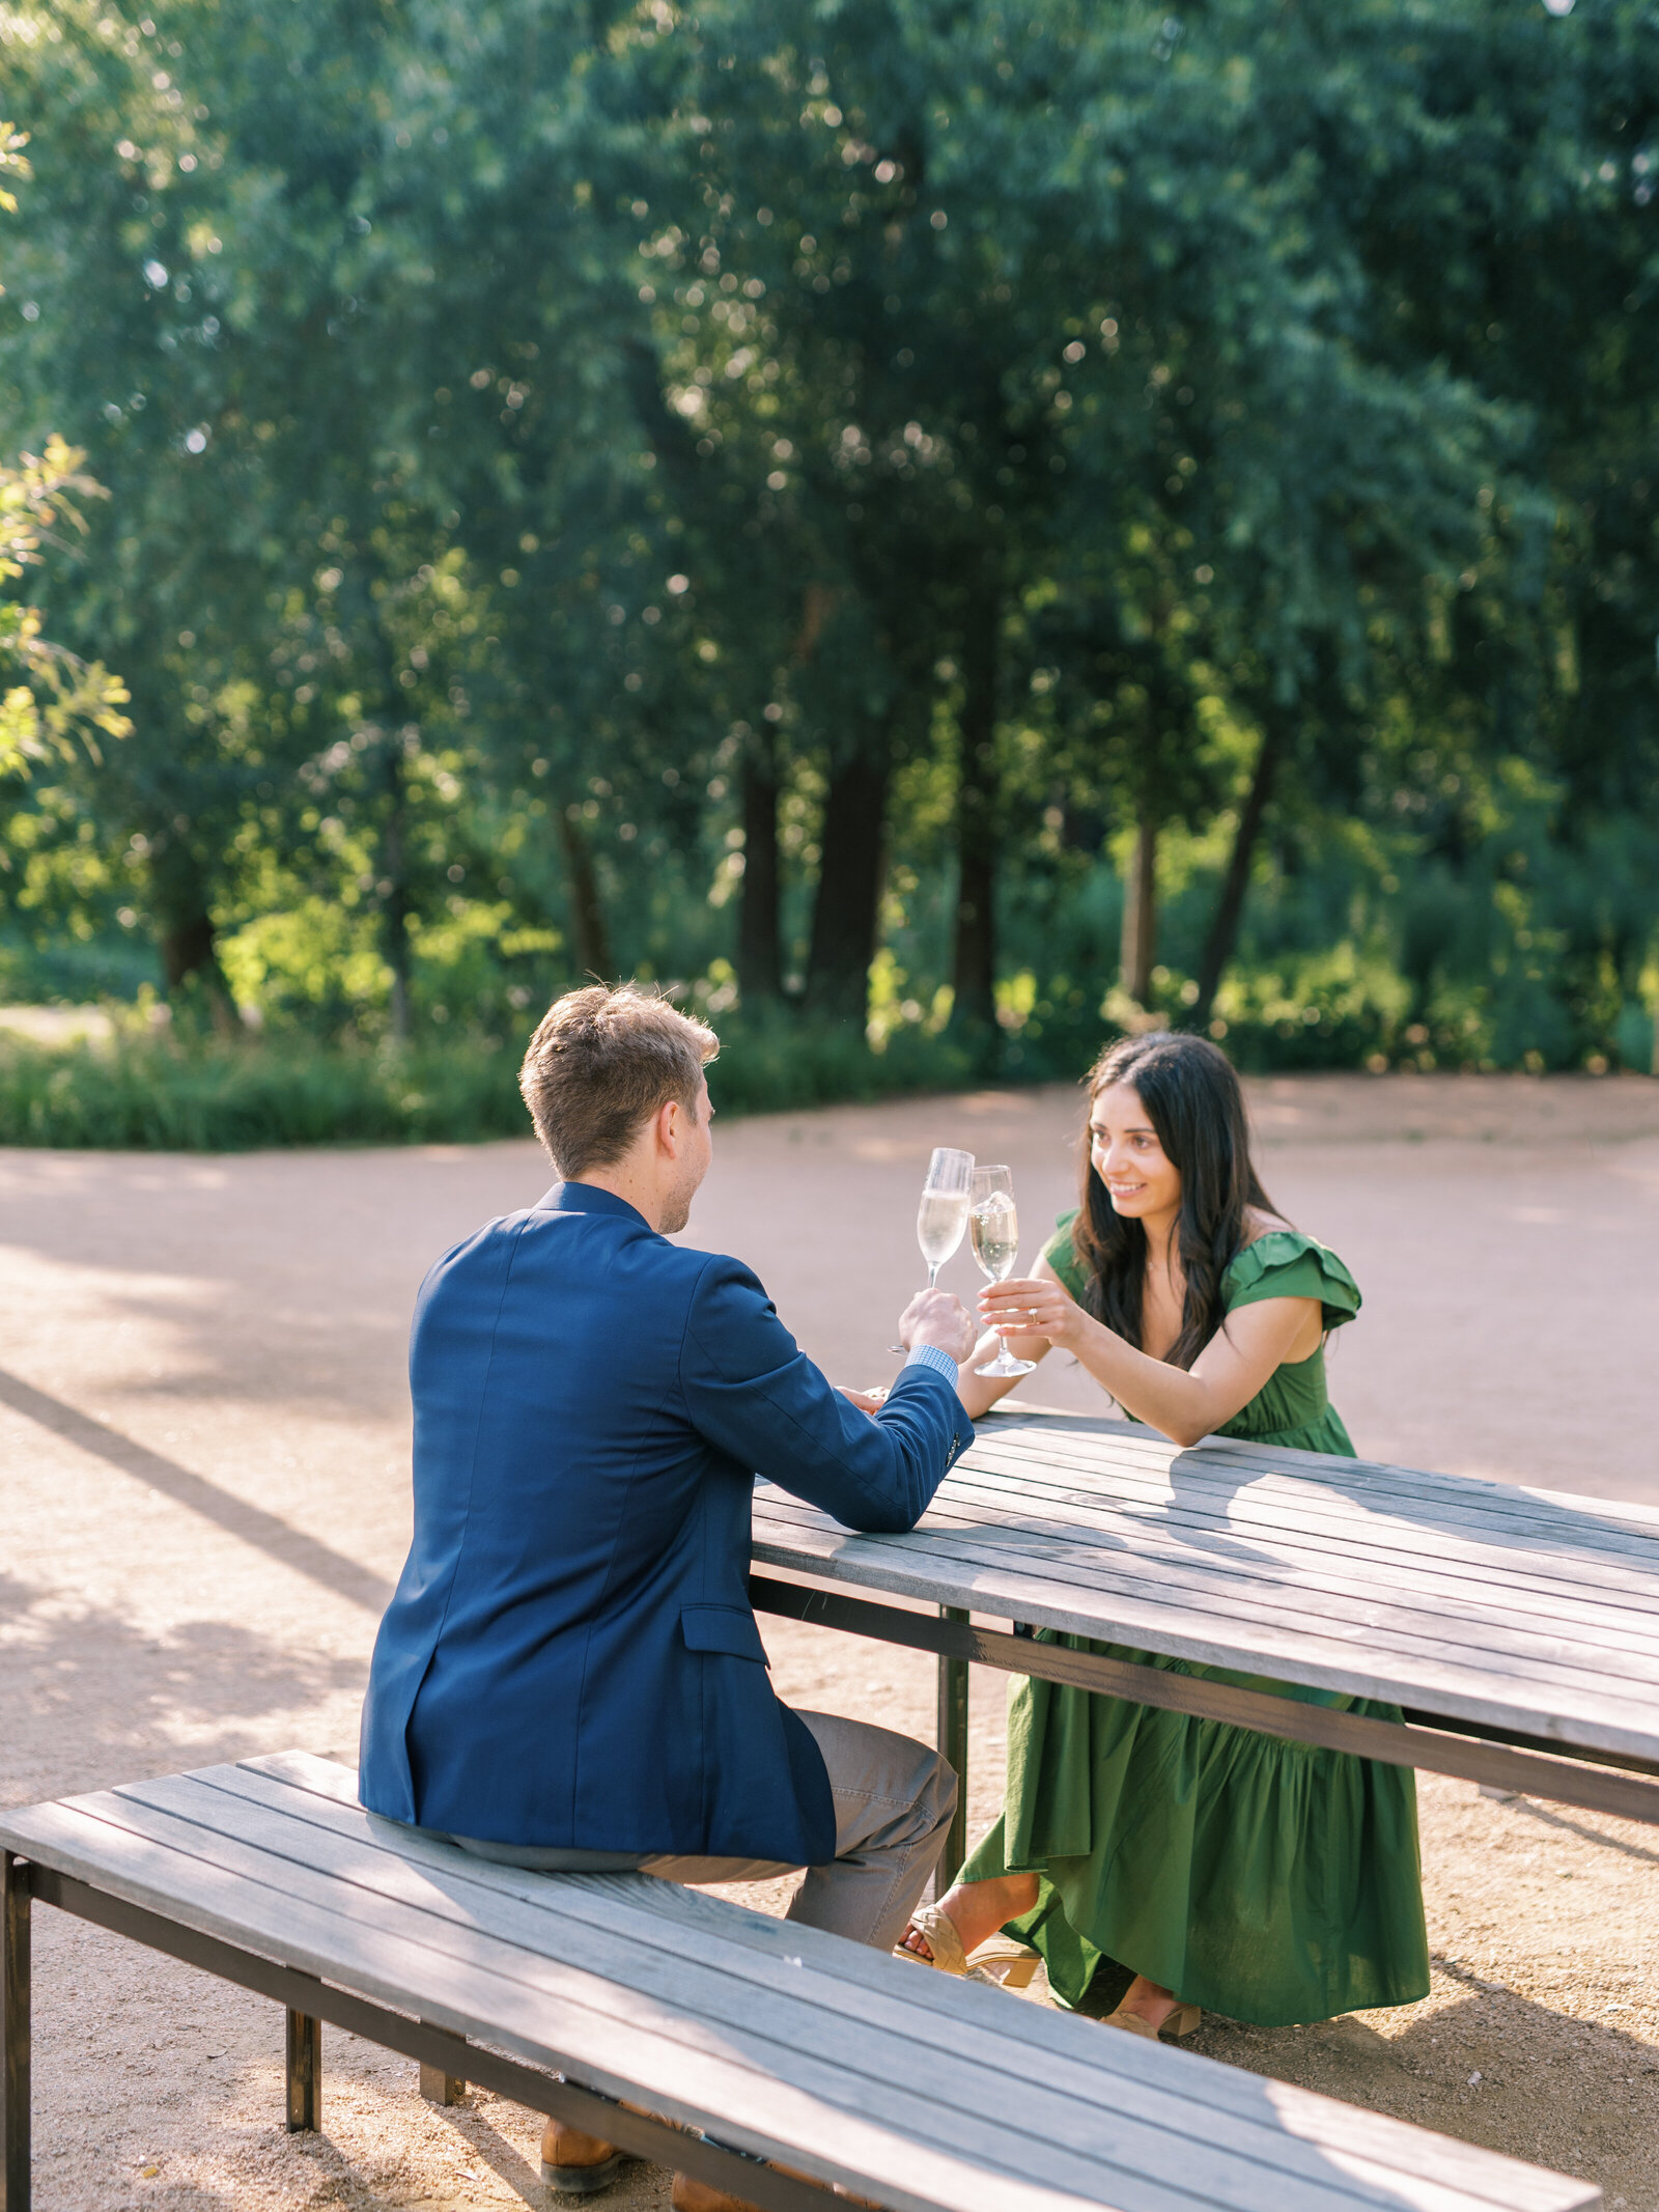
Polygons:
<instances>
[{"instance_id":1,"label":"right sleeve of the man's navy blazer, bent on the table","mask_svg":"<svg viewBox=\"0 0 1659 2212\"><path fill-rule=\"evenodd\" d=\"M734 1259L710 1259L697 1281L679 1380L710 1444L872 1535L914 1528L973 1442L962 1400L931 1367L907 1367L880 1413L860 1413Z\"/></svg>"}]
</instances>

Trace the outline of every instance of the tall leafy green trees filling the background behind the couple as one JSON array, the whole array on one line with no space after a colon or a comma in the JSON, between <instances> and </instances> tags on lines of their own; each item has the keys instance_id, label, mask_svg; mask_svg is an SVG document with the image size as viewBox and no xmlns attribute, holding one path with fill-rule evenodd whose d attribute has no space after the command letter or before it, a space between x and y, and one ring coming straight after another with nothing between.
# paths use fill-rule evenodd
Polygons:
<instances>
[{"instance_id":1,"label":"tall leafy green trees filling the background behind the couple","mask_svg":"<svg viewBox=\"0 0 1659 2212\"><path fill-rule=\"evenodd\" d=\"M358 1040L644 971L1646 1064L1652 0L0 42L0 440L111 487L42 604L133 721L9 787L15 942Z\"/></svg>"}]
</instances>

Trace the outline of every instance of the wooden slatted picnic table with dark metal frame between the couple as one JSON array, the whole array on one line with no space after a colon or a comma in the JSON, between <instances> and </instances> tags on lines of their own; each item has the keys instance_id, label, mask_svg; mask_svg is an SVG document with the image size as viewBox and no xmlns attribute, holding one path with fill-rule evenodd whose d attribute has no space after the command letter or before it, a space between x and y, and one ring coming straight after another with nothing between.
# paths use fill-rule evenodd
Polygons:
<instances>
[{"instance_id":1,"label":"wooden slatted picnic table with dark metal frame between the couple","mask_svg":"<svg viewBox=\"0 0 1659 2212\"><path fill-rule=\"evenodd\" d=\"M1181 1449L1124 1420L1015 1407L978 1425L911 1535L852 1535L759 1484L754 1562L836 1586L754 1575L761 1610L940 1655L940 1750L964 1783L980 1661L1659 1823L1659 1513L1646 1506L1228 1438ZM1031 1628L1385 1699L1405 1723L1037 1644Z\"/></svg>"}]
</instances>

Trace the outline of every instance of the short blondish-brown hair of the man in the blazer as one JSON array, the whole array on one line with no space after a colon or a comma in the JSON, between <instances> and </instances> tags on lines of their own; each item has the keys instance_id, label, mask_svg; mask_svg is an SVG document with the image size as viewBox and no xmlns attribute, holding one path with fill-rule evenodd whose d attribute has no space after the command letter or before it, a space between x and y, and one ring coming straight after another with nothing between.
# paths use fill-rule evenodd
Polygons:
<instances>
[{"instance_id":1,"label":"short blondish-brown hair of the man in the blazer","mask_svg":"<svg viewBox=\"0 0 1659 2212\"><path fill-rule=\"evenodd\" d=\"M719 1037L661 991L586 984L542 1015L518 1088L560 1175L622 1159L644 1124L679 1099L697 1119L703 1066Z\"/></svg>"}]
</instances>

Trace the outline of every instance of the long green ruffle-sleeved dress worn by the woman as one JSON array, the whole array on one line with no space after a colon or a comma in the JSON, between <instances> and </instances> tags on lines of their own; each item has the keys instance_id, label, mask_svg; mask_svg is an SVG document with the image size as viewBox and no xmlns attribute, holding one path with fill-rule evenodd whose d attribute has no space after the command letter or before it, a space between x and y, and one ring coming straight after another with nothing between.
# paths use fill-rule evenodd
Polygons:
<instances>
[{"instance_id":1,"label":"long green ruffle-sleeved dress worn by the woman","mask_svg":"<svg viewBox=\"0 0 1659 2212\"><path fill-rule=\"evenodd\" d=\"M1064 1214L1044 1259L1077 1296ZM1360 1307L1325 1245L1270 1230L1223 1279L1228 1310L1318 1298L1334 1329ZM1223 1436L1354 1458L1325 1396L1325 1349L1281 1367ZM1270 1690L1398 1721L1398 1705L1159 1659L1121 1644L1040 1630L1106 1659ZM1002 1818L960 1880L1035 1871L1035 1907L1009 1922L1033 1944L1060 2004L1075 2006L1102 1958L1188 2004L1259 2026L1329 2020L1429 1993L1416 1776L1347 1752L1279 1743L1221 1721L1157 1712L1051 1681L1009 1690Z\"/></svg>"}]
</instances>

